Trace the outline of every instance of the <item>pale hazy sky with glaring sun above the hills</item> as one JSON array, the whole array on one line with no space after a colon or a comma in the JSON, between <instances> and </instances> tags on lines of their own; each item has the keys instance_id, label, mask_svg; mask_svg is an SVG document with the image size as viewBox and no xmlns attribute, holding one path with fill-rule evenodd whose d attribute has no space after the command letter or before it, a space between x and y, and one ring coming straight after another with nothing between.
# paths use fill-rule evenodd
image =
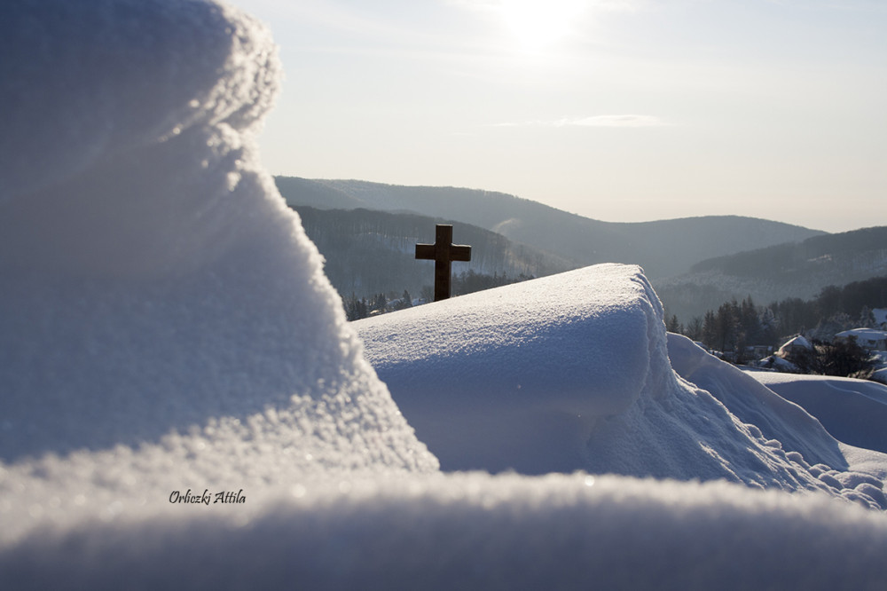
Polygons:
<instances>
[{"instance_id":1,"label":"pale hazy sky with glaring sun above the hills","mask_svg":"<svg viewBox=\"0 0 887 591\"><path fill-rule=\"evenodd\" d=\"M276 175L511 193L595 219L887 225L879 0L232 0L286 81Z\"/></svg>"}]
</instances>

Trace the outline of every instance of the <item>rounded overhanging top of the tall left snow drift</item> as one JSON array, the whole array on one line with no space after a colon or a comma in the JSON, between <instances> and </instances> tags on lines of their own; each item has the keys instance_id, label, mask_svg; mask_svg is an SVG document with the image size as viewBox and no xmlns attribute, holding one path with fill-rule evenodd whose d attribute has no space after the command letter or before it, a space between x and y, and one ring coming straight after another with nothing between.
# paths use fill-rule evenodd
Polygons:
<instances>
[{"instance_id":1,"label":"rounded overhanging top of the tall left snow drift","mask_svg":"<svg viewBox=\"0 0 887 591\"><path fill-rule=\"evenodd\" d=\"M280 71L267 31L221 4L180 4L4 3L0 200L184 131L202 128L210 139L220 128L243 130L262 119ZM212 152L192 156L216 164Z\"/></svg>"}]
</instances>

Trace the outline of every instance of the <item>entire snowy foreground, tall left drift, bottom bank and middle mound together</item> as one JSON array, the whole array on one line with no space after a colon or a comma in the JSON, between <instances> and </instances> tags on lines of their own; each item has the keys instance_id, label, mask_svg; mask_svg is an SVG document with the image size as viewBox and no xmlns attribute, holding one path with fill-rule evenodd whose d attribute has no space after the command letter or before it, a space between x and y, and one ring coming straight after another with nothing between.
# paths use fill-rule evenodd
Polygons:
<instances>
[{"instance_id":1,"label":"entire snowy foreground, tall left drift, bottom bank and middle mound together","mask_svg":"<svg viewBox=\"0 0 887 591\"><path fill-rule=\"evenodd\" d=\"M637 267L349 325L258 162L261 25L0 10L0 587L884 588L887 456Z\"/></svg>"}]
</instances>

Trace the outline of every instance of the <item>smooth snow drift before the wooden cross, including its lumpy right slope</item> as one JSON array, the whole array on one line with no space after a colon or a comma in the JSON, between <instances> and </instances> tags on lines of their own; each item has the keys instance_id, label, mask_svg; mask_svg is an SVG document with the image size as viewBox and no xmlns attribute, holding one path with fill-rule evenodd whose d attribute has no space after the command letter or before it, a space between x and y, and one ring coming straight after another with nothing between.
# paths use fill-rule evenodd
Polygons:
<instances>
[{"instance_id":1,"label":"smooth snow drift before the wooden cross, including its lumpy right slope","mask_svg":"<svg viewBox=\"0 0 887 591\"><path fill-rule=\"evenodd\" d=\"M638 267L596 265L355 325L443 469L723 478L887 508L823 482L850 466L802 408L667 335Z\"/></svg>"}]
</instances>

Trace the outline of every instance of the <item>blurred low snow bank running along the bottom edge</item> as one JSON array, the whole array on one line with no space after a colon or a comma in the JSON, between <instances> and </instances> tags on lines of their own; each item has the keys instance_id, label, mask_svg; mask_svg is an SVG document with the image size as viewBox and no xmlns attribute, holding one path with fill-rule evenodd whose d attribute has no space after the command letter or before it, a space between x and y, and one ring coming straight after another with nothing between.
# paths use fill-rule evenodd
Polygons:
<instances>
[{"instance_id":1,"label":"blurred low snow bank running along the bottom edge","mask_svg":"<svg viewBox=\"0 0 887 591\"><path fill-rule=\"evenodd\" d=\"M40 532L0 554L0 572L10 588L90 589L875 591L887 580L883 516L724 482L348 480L236 509Z\"/></svg>"}]
</instances>

